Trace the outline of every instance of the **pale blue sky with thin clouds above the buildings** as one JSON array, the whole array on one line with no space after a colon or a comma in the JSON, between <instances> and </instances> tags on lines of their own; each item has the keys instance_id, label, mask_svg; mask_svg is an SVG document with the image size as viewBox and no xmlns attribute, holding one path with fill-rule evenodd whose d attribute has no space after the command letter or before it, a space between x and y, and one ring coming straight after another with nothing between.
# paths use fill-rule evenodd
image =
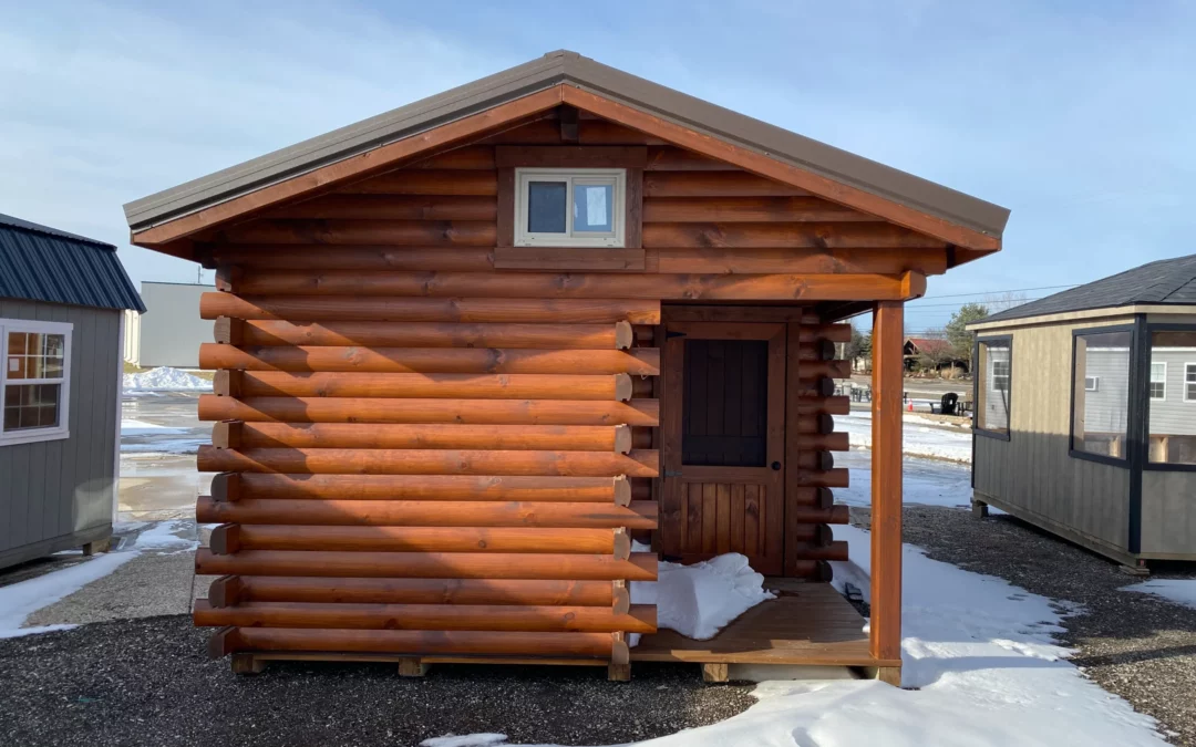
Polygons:
<instances>
[{"instance_id":1,"label":"pale blue sky with thin clouds above the buildings","mask_svg":"<svg viewBox=\"0 0 1196 747\"><path fill-rule=\"evenodd\" d=\"M0 0L0 213L117 244L134 281L195 265L129 246L124 202L559 48L1011 208L1005 250L932 278L948 298L911 305L910 330L1196 251L1191 2Z\"/></svg>"}]
</instances>

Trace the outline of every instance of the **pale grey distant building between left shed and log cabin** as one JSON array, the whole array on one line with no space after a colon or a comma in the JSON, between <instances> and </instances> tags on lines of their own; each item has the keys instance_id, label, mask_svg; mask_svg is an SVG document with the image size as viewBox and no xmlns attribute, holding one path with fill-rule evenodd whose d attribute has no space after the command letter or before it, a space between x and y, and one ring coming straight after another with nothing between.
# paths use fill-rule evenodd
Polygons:
<instances>
[{"instance_id":1,"label":"pale grey distant building between left shed and log cabin","mask_svg":"<svg viewBox=\"0 0 1196 747\"><path fill-rule=\"evenodd\" d=\"M141 283L145 313L128 313L124 360L141 368L199 368L200 343L212 342L212 323L200 319L200 296L215 286Z\"/></svg>"}]
</instances>

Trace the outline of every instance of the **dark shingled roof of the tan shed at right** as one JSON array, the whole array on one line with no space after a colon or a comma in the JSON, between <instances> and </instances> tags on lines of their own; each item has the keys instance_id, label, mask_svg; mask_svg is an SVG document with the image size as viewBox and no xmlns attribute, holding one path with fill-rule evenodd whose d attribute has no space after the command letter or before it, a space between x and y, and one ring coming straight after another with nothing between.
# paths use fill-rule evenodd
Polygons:
<instances>
[{"instance_id":1,"label":"dark shingled roof of the tan shed at right","mask_svg":"<svg viewBox=\"0 0 1196 747\"><path fill-rule=\"evenodd\" d=\"M1133 304L1196 306L1196 255L1159 259L1044 299L1014 306L977 322L1005 322Z\"/></svg>"}]
</instances>

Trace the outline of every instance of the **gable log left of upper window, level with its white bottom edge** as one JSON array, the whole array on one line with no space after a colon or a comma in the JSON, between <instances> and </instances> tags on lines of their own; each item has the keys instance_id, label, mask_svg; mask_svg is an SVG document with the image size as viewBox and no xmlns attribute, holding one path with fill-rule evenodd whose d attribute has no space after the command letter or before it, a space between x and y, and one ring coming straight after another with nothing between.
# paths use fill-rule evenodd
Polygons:
<instances>
[{"instance_id":1,"label":"gable log left of upper window, level with its white bottom edge","mask_svg":"<svg viewBox=\"0 0 1196 747\"><path fill-rule=\"evenodd\" d=\"M355 244L392 246L494 246L494 220L266 220L224 228L222 244Z\"/></svg>"}]
</instances>

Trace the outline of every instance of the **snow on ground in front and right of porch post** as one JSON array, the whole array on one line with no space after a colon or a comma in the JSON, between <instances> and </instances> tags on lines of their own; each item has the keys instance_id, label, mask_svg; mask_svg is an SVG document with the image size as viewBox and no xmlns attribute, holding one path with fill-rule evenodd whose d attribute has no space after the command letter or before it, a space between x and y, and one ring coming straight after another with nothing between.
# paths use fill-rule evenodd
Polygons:
<instances>
[{"instance_id":1,"label":"snow on ground in front and right of porch post","mask_svg":"<svg viewBox=\"0 0 1196 747\"><path fill-rule=\"evenodd\" d=\"M866 577L869 535L835 527ZM704 747L1057 747L1159 746L1157 722L1135 714L1067 662L1054 633L1069 610L991 576L926 557L905 545L904 687L877 680L762 682L758 703L721 723L641 745ZM842 564L841 564L842 565ZM838 575L838 568L836 575ZM867 583L861 587L867 592ZM429 747L494 746L477 741Z\"/></svg>"}]
</instances>

